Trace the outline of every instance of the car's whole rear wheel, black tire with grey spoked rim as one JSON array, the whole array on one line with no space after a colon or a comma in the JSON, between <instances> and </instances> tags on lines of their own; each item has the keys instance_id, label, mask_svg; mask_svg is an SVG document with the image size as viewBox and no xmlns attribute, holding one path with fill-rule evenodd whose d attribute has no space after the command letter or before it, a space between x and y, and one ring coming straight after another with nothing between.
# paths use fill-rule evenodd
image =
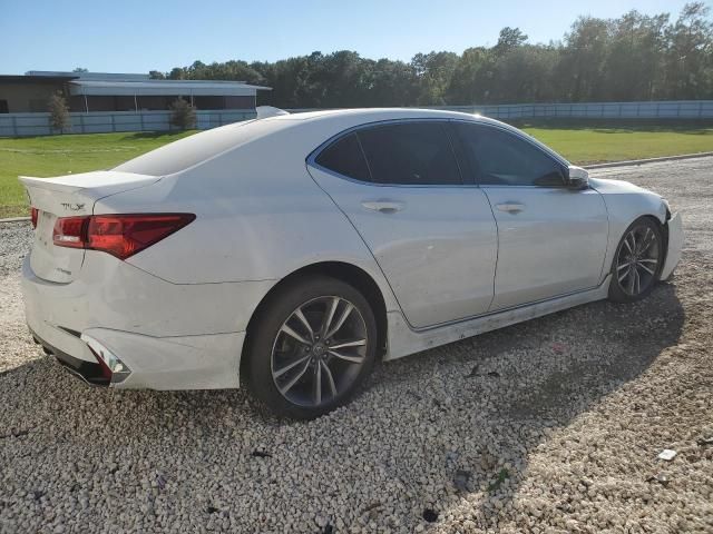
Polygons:
<instances>
[{"instance_id":1,"label":"car's whole rear wheel, black tire with grey spoked rim","mask_svg":"<svg viewBox=\"0 0 713 534\"><path fill-rule=\"evenodd\" d=\"M338 299L336 305L333 304L334 299ZM353 308L346 312L349 305ZM334 312L330 315L332 306ZM302 312L302 317L312 326L313 332L304 326L299 315L295 315L297 310ZM348 314L348 318L338 332L329 338L324 336L329 334L322 332L324 323L331 319L331 325L336 326L344 313ZM285 326L287 328L284 328ZM286 330L310 342L311 345L287 335ZM356 342L363 334L364 344L340 348L340 344L343 347L345 344L355 343L338 339L339 336L345 335L344 330L352 334ZM345 404L363 384L374 366L377 338L374 314L360 291L349 284L326 276L299 278L268 297L251 326L244 354L247 360L243 368L246 385L253 396L279 416L296 419L319 417ZM332 348L339 348L335 352L340 354L339 358L328 346L329 343L332 343ZM341 354L348 350L351 353ZM297 364L304 358L307 358L304 364L307 370L303 370L303 363ZM297 377L300 373L302 375ZM273 377L274 374L280 376ZM279 383L284 389L295 377L296 382L282 393ZM323 396L316 393L316 384L320 392L324 390ZM336 395L333 392L336 392ZM319 404L316 398L321 398Z\"/></svg>"}]
</instances>

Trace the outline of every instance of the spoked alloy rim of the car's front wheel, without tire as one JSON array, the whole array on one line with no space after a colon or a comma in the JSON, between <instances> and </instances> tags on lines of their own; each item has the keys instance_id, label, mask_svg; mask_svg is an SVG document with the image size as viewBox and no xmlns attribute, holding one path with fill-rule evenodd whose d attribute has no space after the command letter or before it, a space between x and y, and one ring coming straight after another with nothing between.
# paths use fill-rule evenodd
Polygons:
<instances>
[{"instance_id":1,"label":"spoked alloy rim of the car's front wheel, without tire","mask_svg":"<svg viewBox=\"0 0 713 534\"><path fill-rule=\"evenodd\" d=\"M632 228L624 236L616 258L616 278L622 290L637 296L648 289L656 280L660 258L656 233L646 225Z\"/></svg>"}]
</instances>

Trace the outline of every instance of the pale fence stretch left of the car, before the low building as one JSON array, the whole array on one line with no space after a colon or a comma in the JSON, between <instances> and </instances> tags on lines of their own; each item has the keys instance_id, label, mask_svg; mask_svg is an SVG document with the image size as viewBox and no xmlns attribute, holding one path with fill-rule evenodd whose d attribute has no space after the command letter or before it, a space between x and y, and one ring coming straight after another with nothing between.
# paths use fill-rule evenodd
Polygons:
<instances>
[{"instance_id":1,"label":"pale fence stretch left of the car, before the low building","mask_svg":"<svg viewBox=\"0 0 713 534\"><path fill-rule=\"evenodd\" d=\"M67 134L106 134L110 131L173 131L170 111L91 111L70 113ZM207 130L217 126L254 119L253 110L198 110L196 127ZM0 137L49 136L59 134L49 126L49 113L0 115Z\"/></svg>"}]
</instances>

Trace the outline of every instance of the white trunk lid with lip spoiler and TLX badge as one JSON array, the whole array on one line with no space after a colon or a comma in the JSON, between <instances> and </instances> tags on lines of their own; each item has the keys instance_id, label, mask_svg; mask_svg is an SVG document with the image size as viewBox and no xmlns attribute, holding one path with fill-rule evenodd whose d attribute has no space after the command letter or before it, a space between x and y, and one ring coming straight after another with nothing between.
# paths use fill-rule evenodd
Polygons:
<instances>
[{"instance_id":1,"label":"white trunk lid with lip spoiler and TLX badge","mask_svg":"<svg viewBox=\"0 0 713 534\"><path fill-rule=\"evenodd\" d=\"M21 176L20 181L37 208L37 228L30 253L32 271L48 281L72 281L84 263L81 248L58 247L52 231L60 217L92 215L95 202L117 192L145 187L158 181L155 176L135 175L113 170L82 172L56 178Z\"/></svg>"}]
</instances>

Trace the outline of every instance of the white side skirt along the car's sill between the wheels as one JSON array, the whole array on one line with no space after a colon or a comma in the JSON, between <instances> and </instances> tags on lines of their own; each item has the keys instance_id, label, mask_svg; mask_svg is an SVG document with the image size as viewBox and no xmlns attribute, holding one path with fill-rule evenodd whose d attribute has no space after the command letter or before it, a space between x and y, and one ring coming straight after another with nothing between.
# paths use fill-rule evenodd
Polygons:
<instances>
[{"instance_id":1,"label":"white side skirt along the car's sill between the wheels","mask_svg":"<svg viewBox=\"0 0 713 534\"><path fill-rule=\"evenodd\" d=\"M389 346L384 360L401 358L516 323L535 319L582 304L602 300L607 297L609 278L611 275L607 275L604 281L593 289L422 330L413 330L409 327L401 313L390 312L388 314Z\"/></svg>"}]
</instances>

